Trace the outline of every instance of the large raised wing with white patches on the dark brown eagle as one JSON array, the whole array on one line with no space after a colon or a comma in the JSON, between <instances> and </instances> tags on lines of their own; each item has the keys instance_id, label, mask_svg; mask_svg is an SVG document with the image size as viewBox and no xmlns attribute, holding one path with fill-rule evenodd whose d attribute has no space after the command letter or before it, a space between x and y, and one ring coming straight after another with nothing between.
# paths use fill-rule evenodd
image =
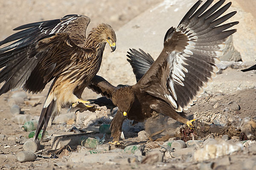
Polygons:
<instances>
[{"instance_id":1,"label":"large raised wing with white patches on the dark brown eagle","mask_svg":"<svg viewBox=\"0 0 256 170\"><path fill-rule=\"evenodd\" d=\"M219 26L236 11L220 17L231 5L230 2L218 9L225 0L205 11L212 1L207 0L197 10L202 2L199 0L177 29L172 27L166 32L163 51L137 83L141 91L165 100L178 112L190 108L204 92L207 83L216 76L218 68L215 64L223 54L224 42L236 32L236 29L224 30L239 23Z\"/></svg>"}]
</instances>

